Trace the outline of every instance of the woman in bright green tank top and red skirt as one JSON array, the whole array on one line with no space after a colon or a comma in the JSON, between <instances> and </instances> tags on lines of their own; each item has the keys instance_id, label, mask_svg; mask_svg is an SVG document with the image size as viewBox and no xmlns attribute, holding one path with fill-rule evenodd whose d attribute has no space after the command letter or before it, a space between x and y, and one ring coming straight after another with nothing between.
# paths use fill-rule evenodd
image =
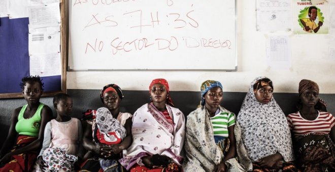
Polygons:
<instances>
[{"instance_id":1,"label":"woman in bright green tank top and red skirt","mask_svg":"<svg viewBox=\"0 0 335 172\"><path fill-rule=\"evenodd\" d=\"M20 86L27 104L16 108L12 114L8 136L0 150L0 171L32 170L42 146L44 127L52 118L51 109L40 103L41 78L24 77Z\"/></svg>"}]
</instances>

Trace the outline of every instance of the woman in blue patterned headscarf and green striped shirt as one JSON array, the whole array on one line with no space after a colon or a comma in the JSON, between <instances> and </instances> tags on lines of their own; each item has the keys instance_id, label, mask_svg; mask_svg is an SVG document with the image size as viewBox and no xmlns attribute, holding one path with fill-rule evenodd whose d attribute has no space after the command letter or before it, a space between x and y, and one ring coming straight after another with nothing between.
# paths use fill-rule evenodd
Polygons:
<instances>
[{"instance_id":1,"label":"woman in blue patterned headscarf and green striped shirt","mask_svg":"<svg viewBox=\"0 0 335 172\"><path fill-rule=\"evenodd\" d=\"M200 87L200 94L200 105L187 116L183 169L245 171L235 158L235 114L220 106L222 84L206 80Z\"/></svg>"}]
</instances>

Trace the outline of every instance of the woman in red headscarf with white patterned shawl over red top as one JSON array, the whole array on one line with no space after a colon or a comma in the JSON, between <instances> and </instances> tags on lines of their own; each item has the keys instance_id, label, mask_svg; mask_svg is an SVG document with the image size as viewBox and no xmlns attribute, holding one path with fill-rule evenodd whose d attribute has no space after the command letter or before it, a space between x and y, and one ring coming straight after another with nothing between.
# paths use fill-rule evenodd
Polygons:
<instances>
[{"instance_id":1,"label":"woman in red headscarf with white patterned shawl over red top","mask_svg":"<svg viewBox=\"0 0 335 172\"><path fill-rule=\"evenodd\" d=\"M151 102L132 117L132 144L121 164L130 171L179 171L183 157L185 117L171 100L169 83L154 79L149 86Z\"/></svg>"}]
</instances>

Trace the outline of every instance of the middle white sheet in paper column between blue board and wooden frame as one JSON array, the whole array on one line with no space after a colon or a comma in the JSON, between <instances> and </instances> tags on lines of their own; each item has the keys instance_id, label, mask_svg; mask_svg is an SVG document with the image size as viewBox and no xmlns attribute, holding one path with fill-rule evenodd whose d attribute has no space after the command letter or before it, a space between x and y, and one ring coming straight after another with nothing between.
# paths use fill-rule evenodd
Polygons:
<instances>
[{"instance_id":1,"label":"middle white sheet in paper column between blue board and wooden frame","mask_svg":"<svg viewBox=\"0 0 335 172\"><path fill-rule=\"evenodd\" d=\"M59 27L29 28L29 54L60 52Z\"/></svg>"}]
</instances>

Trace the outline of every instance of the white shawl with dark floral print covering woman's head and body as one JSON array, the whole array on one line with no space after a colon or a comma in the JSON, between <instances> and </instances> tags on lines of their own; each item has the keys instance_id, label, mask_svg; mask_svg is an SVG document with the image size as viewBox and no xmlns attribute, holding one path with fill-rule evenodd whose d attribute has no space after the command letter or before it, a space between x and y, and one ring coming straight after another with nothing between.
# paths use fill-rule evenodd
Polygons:
<instances>
[{"instance_id":1,"label":"white shawl with dark floral print covering woman's head and body","mask_svg":"<svg viewBox=\"0 0 335 172\"><path fill-rule=\"evenodd\" d=\"M286 117L272 97L267 104L256 100L253 85L250 85L237 121L241 126L242 140L252 161L280 153L285 161L293 160L292 140Z\"/></svg>"}]
</instances>

